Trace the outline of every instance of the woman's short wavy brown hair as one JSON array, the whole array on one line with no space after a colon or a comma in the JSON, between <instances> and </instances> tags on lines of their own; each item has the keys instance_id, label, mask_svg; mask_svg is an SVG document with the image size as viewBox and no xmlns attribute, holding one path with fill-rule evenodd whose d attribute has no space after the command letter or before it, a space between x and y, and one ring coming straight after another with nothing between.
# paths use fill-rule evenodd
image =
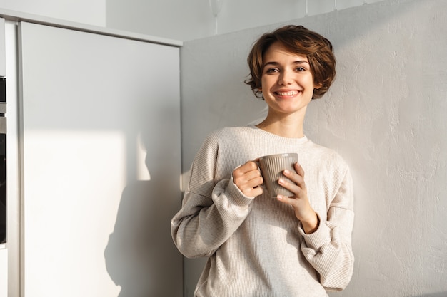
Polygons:
<instances>
[{"instance_id":1,"label":"woman's short wavy brown hair","mask_svg":"<svg viewBox=\"0 0 447 297\"><path fill-rule=\"evenodd\" d=\"M261 78L263 72L263 56L273 43L280 42L291 53L308 58L313 74L313 81L321 88L313 90L312 99L321 98L336 77L336 59L333 55L332 43L320 34L303 26L283 26L271 33L265 33L254 43L247 62L250 76L245 83L258 98L262 98Z\"/></svg>"}]
</instances>

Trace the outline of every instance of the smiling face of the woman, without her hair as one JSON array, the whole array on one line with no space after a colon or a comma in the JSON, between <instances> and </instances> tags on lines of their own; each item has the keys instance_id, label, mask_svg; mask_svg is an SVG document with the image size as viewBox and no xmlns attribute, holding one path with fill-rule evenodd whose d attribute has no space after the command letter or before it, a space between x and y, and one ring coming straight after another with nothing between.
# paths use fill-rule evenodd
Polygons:
<instances>
[{"instance_id":1,"label":"smiling face of the woman, without her hair","mask_svg":"<svg viewBox=\"0 0 447 297\"><path fill-rule=\"evenodd\" d=\"M273 43L263 57L261 91L271 112L306 113L312 100L313 74L306 56L288 51L282 43Z\"/></svg>"}]
</instances>

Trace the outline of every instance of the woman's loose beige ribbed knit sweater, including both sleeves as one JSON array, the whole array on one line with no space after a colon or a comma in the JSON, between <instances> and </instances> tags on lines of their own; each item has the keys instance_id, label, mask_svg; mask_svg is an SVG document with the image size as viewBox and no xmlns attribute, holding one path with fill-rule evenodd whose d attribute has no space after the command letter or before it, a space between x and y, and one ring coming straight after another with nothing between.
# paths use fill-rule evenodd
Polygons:
<instances>
[{"instance_id":1,"label":"woman's loose beige ribbed knit sweater, including both sleeves","mask_svg":"<svg viewBox=\"0 0 447 297\"><path fill-rule=\"evenodd\" d=\"M321 220L313 234L288 205L266 191L246 197L233 183L237 166L285 152L298 152L305 172ZM228 127L212 132L196 155L171 233L184 256L209 258L194 296L323 297L351 279L353 217L351 174L336 152L306 137Z\"/></svg>"}]
</instances>

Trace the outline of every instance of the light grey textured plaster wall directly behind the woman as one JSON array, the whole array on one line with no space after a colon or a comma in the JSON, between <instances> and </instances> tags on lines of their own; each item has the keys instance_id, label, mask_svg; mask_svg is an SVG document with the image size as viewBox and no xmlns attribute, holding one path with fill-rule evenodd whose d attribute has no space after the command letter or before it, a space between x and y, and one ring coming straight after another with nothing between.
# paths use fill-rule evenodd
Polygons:
<instances>
[{"instance_id":1,"label":"light grey textured plaster wall directly behind the woman","mask_svg":"<svg viewBox=\"0 0 447 297\"><path fill-rule=\"evenodd\" d=\"M294 20L335 47L338 77L305 132L333 147L355 182L351 284L331 296L447 295L447 2L390 0ZM251 43L279 24L181 48L183 165L205 135L265 105L243 84ZM203 260L185 262L190 297Z\"/></svg>"}]
</instances>

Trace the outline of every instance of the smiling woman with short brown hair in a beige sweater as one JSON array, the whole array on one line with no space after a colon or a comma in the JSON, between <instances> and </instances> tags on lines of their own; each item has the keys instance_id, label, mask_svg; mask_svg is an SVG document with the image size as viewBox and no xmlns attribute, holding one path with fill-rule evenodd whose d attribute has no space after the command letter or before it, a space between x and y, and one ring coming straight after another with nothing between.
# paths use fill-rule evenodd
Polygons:
<instances>
[{"instance_id":1,"label":"smiling woman with short brown hair in a beige sweater","mask_svg":"<svg viewBox=\"0 0 447 297\"><path fill-rule=\"evenodd\" d=\"M194 296L323 297L347 286L351 174L336 152L303 134L307 105L326 93L335 64L331 43L303 26L278 28L254 44L246 83L268 115L206 137L171 222L184 256L209 257ZM283 172L293 183L278 183L294 195L272 199L256 161L287 152L298 152L296 172Z\"/></svg>"}]
</instances>

